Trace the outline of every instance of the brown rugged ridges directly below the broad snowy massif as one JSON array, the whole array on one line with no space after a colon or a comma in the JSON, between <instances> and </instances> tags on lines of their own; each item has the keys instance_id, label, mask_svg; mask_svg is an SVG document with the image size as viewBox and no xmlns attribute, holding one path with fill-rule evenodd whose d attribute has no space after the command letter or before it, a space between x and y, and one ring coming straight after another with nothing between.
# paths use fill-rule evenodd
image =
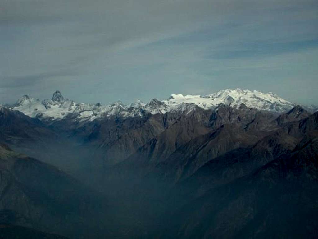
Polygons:
<instances>
[{"instance_id":1,"label":"brown rugged ridges directly below the broad snowy massif","mask_svg":"<svg viewBox=\"0 0 318 239\"><path fill-rule=\"evenodd\" d=\"M209 160L272 134L277 129L275 117L245 105L239 109L220 105L213 112L197 109L180 117L107 175L137 170L134 175L155 175L172 182L186 179Z\"/></svg>"}]
</instances>

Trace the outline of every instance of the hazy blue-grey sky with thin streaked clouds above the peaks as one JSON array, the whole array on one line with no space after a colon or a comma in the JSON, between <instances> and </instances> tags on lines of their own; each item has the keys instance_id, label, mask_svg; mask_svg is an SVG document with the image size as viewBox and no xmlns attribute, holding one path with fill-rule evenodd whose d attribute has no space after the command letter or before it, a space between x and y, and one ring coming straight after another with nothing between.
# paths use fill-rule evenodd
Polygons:
<instances>
[{"instance_id":1,"label":"hazy blue-grey sky with thin streaked clouds above the peaks","mask_svg":"<svg viewBox=\"0 0 318 239\"><path fill-rule=\"evenodd\" d=\"M0 103L225 88L318 105L318 1L0 0Z\"/></svg>"}]
</instances>

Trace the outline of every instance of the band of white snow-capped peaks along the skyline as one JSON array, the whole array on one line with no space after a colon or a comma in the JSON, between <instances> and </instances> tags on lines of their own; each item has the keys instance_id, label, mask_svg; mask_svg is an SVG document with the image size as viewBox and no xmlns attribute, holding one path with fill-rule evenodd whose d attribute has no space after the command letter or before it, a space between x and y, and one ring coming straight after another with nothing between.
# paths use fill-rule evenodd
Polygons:
<instances>
[{"instance_id":1,"label":"band of white snow-capped peaks along the skyline","mask_svg":"<svg viewBox=\"0 0 318 239\"><path fill-rule=\"evenodd\" d=\"M203 109L214 109L219 104L230 105L238 108L241 104L247 107L268 110L273 112L287 112L296 104L280 98L273 93L262 93L242 89L225 89L211 95L171 95L168 100L158 101L153 99L149 103L137 101L129 105L115 102L111 105L76 103L65 99L61 92L56 91L51 99L40 101L24 95L11 107L13 110L23 112L32 118L64 119L71 117L76 120L92 121L99 117L133 117L145 114L167 113L171 111L190 112L196 106Z\"/></svg>"}]
</instances>

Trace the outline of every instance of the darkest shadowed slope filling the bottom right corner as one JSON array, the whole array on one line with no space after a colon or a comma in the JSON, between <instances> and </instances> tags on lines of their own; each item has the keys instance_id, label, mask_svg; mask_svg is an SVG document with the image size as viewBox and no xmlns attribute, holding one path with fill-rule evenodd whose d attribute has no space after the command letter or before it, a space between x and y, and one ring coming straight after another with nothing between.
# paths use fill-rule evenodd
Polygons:
<instances>
[{"instance_id":1,"label":"darkest shadowed slope filling the bottom right corner","mask_svg":"<svg viewBox=\"0 0 318 239\"><path fill-rule=\"evenodd\" d=\"M318 139L180 210L163 238L316 238Z\"/></svg>"}]
</instances>

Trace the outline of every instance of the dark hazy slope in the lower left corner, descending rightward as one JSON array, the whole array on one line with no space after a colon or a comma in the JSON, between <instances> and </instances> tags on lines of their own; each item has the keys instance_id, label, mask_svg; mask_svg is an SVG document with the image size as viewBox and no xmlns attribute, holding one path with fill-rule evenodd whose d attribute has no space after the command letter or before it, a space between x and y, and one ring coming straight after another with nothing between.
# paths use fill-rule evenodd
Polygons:
<instances>
[{"instance_id":1,"label":"dark hazy slope in the lower left corner, descending rightward","mask_svg":"<svg viewBox=\"0 0 318 239\"><path fill-rule=\"evenodd\" d=\"M71 238L101 233L105 199L58 168L1 145L0 176L0 210L12 219L7 223L21 225L19 214L26 226Z\"/></svg>"}]
</instances>

